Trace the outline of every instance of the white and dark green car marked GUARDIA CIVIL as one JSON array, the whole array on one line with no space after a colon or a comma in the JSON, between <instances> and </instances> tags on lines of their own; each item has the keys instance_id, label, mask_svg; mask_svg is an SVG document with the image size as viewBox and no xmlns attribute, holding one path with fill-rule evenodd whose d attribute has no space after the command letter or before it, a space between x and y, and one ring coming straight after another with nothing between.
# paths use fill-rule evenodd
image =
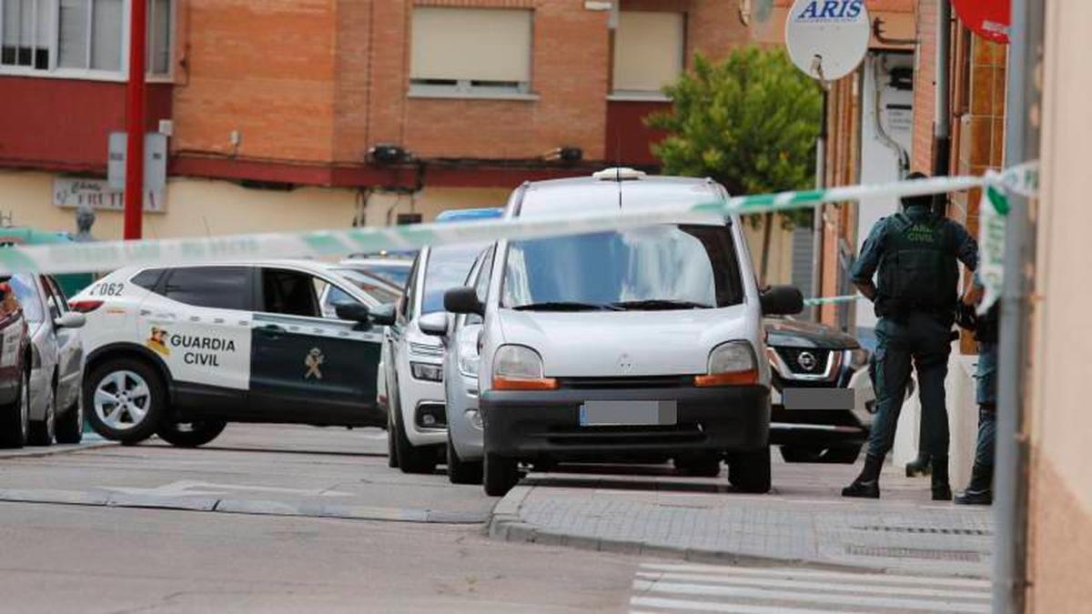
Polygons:
<instances>
[{"instance_id":1,"label":"white and dark green car marked GUARDIA CIVIL","mask_svg":"<svg viewBox=\"0 0 1092 614\"><path fill-rule=\"evenodd\" d=\"M323 315L331 291L344 299ZM71 304L86 315L85 412L108 439L192 447L228 422L385 425L373 320L391 308L323 263L126 268Z\"/></svg>"}]
</instances>

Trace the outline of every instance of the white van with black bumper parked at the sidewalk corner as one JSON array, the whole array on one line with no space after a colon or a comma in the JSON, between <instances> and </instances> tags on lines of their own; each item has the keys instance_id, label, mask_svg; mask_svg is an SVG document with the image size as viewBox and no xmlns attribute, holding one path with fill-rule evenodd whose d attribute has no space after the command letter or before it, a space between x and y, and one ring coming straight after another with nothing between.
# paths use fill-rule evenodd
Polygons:
<instances>
[{"instance_id":1,"label":"white van with black bumper parked at the sidewalk corner","mask_svg":"<svg viewBox=\"0 0 1092 614\"><path fill-rule=\"evenodd\" d=\"M607 169L524 184L506 215L628 213L726 196L708 179ZM737 219L680 214L669 224L503 240L492 258L484 300L471 287L444 296L449 311L484 319L487 494L511 488L520 462L633 454L724 459L738 489L769 491L762 316L797 312L803 299L792 287L760 295Z\"/></svg>"}]
</instances>

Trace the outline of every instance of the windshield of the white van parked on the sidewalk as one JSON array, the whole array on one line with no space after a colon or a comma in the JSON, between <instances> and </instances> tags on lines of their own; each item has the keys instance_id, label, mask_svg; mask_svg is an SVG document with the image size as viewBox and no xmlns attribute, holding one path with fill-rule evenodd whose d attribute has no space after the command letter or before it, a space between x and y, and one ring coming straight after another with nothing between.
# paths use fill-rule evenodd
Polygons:
<instances>
[{"instance_id":1,"label":"windshield of the white van parked on the sidewalk","mask_svg":"<svg viewBox=\"0 0 1092 614\"><path fill-rule=\"evenodd\" d=\"M700 309L743 302L728 226L664 224L512 241L501 307Z\"/></svg>"}]
</instances>

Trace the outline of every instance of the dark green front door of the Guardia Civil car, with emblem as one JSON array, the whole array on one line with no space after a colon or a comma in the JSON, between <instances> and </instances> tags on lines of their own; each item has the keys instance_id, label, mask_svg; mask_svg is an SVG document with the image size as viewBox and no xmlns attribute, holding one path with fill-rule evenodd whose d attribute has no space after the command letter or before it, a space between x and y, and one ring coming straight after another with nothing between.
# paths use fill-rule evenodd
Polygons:
<instances>
[{"instance_id":1,"label":"dark green front door of the Guardia Civil car, with emblem","mask_svg":"<svg viewBox=\"0 0 1092 614\"><path fill-rule=\"evenodd\" d=\"M261 269L250 361L250 406L271 422L365 424L376 402L380 331L323 317L330 282L290 268ZM352 296L344 288L341 293Z\"/></svg>"}]
</instances>

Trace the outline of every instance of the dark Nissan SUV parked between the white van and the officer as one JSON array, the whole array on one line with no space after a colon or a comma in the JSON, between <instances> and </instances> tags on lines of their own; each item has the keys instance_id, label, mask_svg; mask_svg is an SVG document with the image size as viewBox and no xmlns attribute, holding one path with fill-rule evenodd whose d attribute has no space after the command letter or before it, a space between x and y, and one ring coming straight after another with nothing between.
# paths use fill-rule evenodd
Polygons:
<instances>
[{"instance_id":1,"label":"dark Nissan SUV parked between the white van and the officer","mask_svg":"<svg viewBox=\"0 0 1092 614\"><path fill-rule=\"evenodd\" d=\"M787 462L857 459L868 439L875 393L869 352L853 336L792 318L767 318L773 371L770 444Z\"/></svg>"}]
</instances>

